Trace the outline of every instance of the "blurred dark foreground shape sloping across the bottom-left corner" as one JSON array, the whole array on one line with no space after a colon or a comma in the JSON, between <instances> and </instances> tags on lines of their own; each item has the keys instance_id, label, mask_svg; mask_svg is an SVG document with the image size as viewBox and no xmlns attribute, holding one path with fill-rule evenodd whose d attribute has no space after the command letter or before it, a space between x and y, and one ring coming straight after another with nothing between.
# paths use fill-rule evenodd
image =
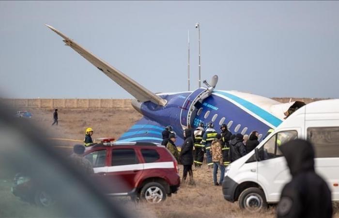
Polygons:
<instances>
[{"instance_id":1,"label":"blurred dark foreground shape sloping across the bottom-left corner","mask_svg":"<svg viewBox=\"0 0 339 218\"><path fill-rule=\"evenodd\" d=\"M4 110L6 107L0 103L0 217L139 216L104 195L98 184L44 140L48 137L43 130L31 122L13 119L13 111ZM11 187L24 199L33 196L30 200L49 206L20 201L11 194ZM21 195L24 189L32 192Z\"/></svg>"}]
</instances>

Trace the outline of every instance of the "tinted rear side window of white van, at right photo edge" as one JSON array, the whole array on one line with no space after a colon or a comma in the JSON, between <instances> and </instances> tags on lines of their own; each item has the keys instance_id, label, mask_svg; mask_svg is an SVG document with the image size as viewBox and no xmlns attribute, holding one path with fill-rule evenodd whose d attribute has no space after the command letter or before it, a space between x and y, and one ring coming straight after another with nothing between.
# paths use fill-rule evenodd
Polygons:
<instances>
[{"instance_id":1,"label":"tinted rear side window of white van, at right photo edge","mask_svg":"<svg viewBox=\"0 0 339 218\"><path fill-rule=\"evenodd\" d=\"M307 139L314 146L315 157L339 157L339 127L309 127Z\"/></svg>"}]
</instances>

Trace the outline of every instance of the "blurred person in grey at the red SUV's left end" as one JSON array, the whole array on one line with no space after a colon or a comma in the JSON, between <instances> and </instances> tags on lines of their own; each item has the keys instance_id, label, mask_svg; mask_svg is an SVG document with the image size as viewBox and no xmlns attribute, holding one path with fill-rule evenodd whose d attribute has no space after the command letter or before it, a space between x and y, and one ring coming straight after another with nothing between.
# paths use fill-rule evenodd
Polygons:
<instances>
[{"instance_id":1,"label":"blurred person in grey at the red SUV's left end","mask_svg":"<svg viewBox=\"0 0 339 218\"><path fill-rule=\"evenodd\" d=\"M85 152L85 146L81 144L74 145L73 152L74 153L70 156L70 159L74 166L76 166L77 169L79 169L79 171L82 171L83 173L94 173L91 161L82 156Z\"/></svg>"}]
</instances>

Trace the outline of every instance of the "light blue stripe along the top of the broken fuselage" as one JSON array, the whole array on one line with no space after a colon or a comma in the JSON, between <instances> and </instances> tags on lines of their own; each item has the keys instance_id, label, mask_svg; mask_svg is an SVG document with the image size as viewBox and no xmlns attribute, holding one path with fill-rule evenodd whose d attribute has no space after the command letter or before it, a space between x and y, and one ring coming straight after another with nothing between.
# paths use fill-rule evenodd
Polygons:
<instances>
[{"instance_id":1,"label":"light blue stripe along the top of the broken fuselage","mask_svg":"<svg viewBox=\"0 0 339 218\"><path fill-rule=\"evenodd\" d=\"M274 125L274 126L277 127L278 125L280 125L282 123L282 121L279 118L275 117L274 115L272 115L271 113L267 112L266 110L259 108L255 104L253 104L251 102L248 102L245 99L242 99L242 98L240 98L238 96L235 96L233 94L230 94L230 93L224 93L224 92L220 92L220 91L216 91L214 93L222 94L225 97L228 97L228 98L232 99L233 101L237 102L241 106L245 107L246 109L250 110L254 114L258 115L263 120L265 120L268 123L270 123L271 125Z\"/></svg>"}]
</instances>

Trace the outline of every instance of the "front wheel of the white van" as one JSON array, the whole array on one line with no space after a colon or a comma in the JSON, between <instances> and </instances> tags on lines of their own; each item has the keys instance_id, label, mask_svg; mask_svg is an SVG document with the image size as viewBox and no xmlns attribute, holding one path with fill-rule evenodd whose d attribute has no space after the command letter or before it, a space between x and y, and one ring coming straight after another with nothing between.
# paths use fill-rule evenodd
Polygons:
<instances>
[{"instance_id":1,"label":"front wheel of the white van","mask_svg":"<svg viewBox=\"0 0 339 218\"><path fill-rule=\"evenodd\" d=\"M256 187L250 187L241 192L239 206L249 212L256 212L267 208L267 202L263 191Z\"/></svg>"}]
</instances>

